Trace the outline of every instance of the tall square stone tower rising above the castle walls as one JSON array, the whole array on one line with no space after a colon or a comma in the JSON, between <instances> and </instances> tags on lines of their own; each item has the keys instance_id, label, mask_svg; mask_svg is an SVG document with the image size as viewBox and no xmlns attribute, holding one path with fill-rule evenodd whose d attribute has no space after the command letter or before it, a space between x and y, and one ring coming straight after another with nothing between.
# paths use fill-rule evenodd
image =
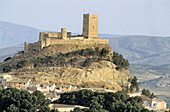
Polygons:
<instances>
[{"instance_id":1,"label":"tall square stone tower rising above the castle walls","mask_svg":"<svg viewBox=\"0 0 170 112\"><path fill-rule=\"evenodd\" d=\"M83 36L88 39L98 38L97 14L83 14Z\"/></svg>"}]
</instances>

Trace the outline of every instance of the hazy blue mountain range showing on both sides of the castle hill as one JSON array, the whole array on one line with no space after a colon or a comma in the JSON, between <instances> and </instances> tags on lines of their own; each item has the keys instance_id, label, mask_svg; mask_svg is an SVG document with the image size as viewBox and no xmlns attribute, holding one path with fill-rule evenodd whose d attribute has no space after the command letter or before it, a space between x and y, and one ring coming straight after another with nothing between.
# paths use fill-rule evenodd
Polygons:
<instances>
[{"instance_id":1,"label":"hazy blue mountain range showing on both sides of the castle hill","mask_svg":"<svg viewBox=\"0 0 170 112\"><path fill-rule=\"evenodd\" d=\"M15 46L19 50L19 44L37 41L39 32L40 30L29 26L0 21L0 48L9 47L6 48L9 55L15 54ZM109 39L113 50L122 54L132 64L170 64L170 37L99 34L99 38ZM1 50L2 60L8 54L3 54ZM22 45L20 50L23 50Z\"/></svg>"}]
</instances>

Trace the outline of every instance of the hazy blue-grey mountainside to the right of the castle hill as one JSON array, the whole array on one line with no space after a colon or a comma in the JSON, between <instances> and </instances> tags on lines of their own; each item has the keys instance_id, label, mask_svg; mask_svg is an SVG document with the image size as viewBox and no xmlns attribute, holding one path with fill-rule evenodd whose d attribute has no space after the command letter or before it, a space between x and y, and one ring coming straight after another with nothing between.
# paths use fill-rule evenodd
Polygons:
<instances>
[{"instance_id":1,"label":"hazy blue-grey mountainside to the right of the castle hill","mask_svg":"<svg viewBox=\"0 0 170 112\"><path fill-rule=\"evenodd\" d=\"M114 51L133 64L170 64L170 37L107 37Z\"/></svg>"}]
</instances>

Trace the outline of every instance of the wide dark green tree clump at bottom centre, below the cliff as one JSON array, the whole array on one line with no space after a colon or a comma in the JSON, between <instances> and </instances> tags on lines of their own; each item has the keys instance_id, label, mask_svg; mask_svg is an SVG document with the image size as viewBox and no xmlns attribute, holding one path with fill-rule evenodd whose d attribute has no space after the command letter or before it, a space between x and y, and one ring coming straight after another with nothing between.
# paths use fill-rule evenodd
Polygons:
<instances>
[{"instance_id":1,"label":"wide dark green tree clump at bottom centre, below the cliff","mask_svg":"<svg viewBox=\"0 0 170 112\"><path fill-rule=\"evenodd\" d=\"M129 97L125 91L100 93L81 90L64 93L59 101L89 107L89 109L74 108L71 112L149 112L142 107L143 101L140 96Z\"/></svg>"}]
</instances>

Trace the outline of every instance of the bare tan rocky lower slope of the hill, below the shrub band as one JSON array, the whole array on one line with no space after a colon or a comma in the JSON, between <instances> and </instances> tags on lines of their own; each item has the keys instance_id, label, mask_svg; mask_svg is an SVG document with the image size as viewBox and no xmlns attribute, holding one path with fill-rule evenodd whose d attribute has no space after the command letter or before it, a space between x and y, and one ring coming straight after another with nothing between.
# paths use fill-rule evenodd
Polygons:
<instances>
[{"instance_id":1,"label":"bare tan rocky lower slope of the hill, below the shrub band","mask_svg":"<svg viewBox=\"0 0 170 112\"><path fill-rule=\"evenodd\" d=\"M109 61L94 62L87 69L73 67L42 67L13 71L17 77L29 77L34 84L55 83L60 85L76 85L90 88L107 88L121 90L121 86L129 85L128 69L116 70L116 65Z\"/></svg>"}]
</instances>

